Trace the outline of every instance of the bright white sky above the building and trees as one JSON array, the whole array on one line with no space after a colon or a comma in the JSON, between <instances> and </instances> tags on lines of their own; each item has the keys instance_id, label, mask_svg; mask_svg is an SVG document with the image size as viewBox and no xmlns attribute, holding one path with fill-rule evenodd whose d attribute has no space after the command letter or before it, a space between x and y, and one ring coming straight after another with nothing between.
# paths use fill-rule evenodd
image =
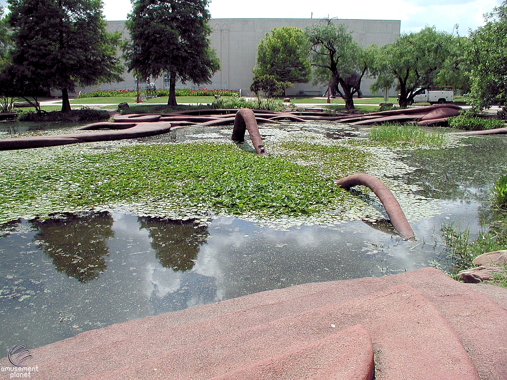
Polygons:
<instances>
[{"instance_id":1,"label":"bright white sky above the building and trees","mask_svg":"<svg viewBox=\"0 0 507 380\"><path fill-rule=\"evenodd\" d=\"M102 0L107 20L125 20L131 11L129 0ZM211 0L212 18L324 18L401 20L401 30L419 31L426 25L466 35L469 28L483 24L483 14L501 0Z\"/></svg>"}]
</instances>

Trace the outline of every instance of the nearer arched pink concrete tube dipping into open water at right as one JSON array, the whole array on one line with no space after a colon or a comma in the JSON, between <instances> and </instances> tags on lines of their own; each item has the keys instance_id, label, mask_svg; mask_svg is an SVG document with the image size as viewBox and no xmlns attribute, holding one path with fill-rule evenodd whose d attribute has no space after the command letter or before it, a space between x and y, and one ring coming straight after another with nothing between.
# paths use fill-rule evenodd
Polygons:
<instances>
[{"instance_id":1,"label":"nearer arched pink concrete tube dipping into open water at right","mask_svg":"<svg viewBox=\"0 0 507 380\"><path fill-rule=\"evenodd\" d=\"M412 227L405 217L400 204L396 201L396 198L394 198L391 191L380 179L377 179L369 174L358 173L337 179L335 180L335 183L346 190L357 185L364 185L371 188L375 195L380 199L380 202L384 205L392 226L396 229L400 236L405 239L414 237L414 231L412 231Z\"/></svg>"}]
</instances>

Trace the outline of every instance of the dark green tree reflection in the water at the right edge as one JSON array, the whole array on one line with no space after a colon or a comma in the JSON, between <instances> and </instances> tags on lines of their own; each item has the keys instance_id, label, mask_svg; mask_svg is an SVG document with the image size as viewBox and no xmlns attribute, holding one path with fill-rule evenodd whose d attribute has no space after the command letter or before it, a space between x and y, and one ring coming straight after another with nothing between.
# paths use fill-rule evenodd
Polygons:
<instances>
[{"instance_id":1,"label":"dark green tree reflection in the water at the right edge","mask_svg":"<svg viewBox=\"0 0 507 380\"><path fill-rule=\"evenodd\" d=\"M465 146L448 149L418 149L402 158L418 169L407 174L407 182L423 188L421 195L452 201L482 201L489 196L484 186L505 171L507 140L472 137Z\"/></svg>"}]
</instances>

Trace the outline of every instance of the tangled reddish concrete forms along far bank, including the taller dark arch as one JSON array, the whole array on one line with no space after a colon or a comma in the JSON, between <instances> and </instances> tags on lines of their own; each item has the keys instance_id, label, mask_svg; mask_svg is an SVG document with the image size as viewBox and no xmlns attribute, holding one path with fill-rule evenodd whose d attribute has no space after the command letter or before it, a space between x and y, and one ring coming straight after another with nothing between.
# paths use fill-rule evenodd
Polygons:
<instances>
[{"instance_id":1,"label":"tangled reddish concrete forms along far bank, including the taller dark arch","mask_svg":"<svg viewBox=\"0 0 507 380\"><path fill-rule=\"evenodd\" d=\"M259 154L265 154L258 145L264 145L259 135L258 124L277 123L278 120L289 120L292 122L305 122L308 120L328 120L340 123L349 123L353 125L371 125L385 122L413 122L420 125L437 125L447 121L448 117L456 116L461 108L453 104L435 104L424 107L413 107L408 109L397 109L391 111L382 111L368 113L360 116L350 116L347 113L331 115L329 112L317 112L315 110L305 110L296 112L275 112L268 110L242 109L192 109L187 111L177 111L165 114L149 115L116 115L115 122L92 123L79 130L102 130L89 134L68 134L40 137L17 137L0 139L0 150L23 149L43 146L54 146L63 144L74 144L85 141L107 141L120 140L127 138L136 138L143 136L153 136L161 133L167 133L172 128L182 128L184 126L222 126L234 124L233 140L243 141L245 130L248 129L250 135L255 135L258 139L256 151ZM116 130L116 131L112 131ZM256 132L257 130L257 132ZM463 132L461 134L493 134L505 133L505 128L489 131ZM256 136L259 135L258 137ZM253 140L253 139L252 139Z\"/></svg>"}]
</instances>

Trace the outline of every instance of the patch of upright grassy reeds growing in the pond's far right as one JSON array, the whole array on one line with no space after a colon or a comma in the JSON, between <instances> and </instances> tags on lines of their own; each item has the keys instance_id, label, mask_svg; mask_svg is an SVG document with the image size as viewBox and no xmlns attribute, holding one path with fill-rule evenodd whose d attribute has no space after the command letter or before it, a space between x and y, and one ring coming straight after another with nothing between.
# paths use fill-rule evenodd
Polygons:
<instances>
[{"instance_id":1,"label":"patch of upright grassy reeds growing in the pond's far right","mask_svg":"<svg viewBox=\"0 0 507 380\"><path fill-rule=\"evenodd\" d=\"M415 125L395 125L383 124L375 126L368 132L370 140L383 143L407 142L417 146L428 145L432 147L441 147L446 136L443 133L430 133Z\"/></svg>"}]
</instances>

